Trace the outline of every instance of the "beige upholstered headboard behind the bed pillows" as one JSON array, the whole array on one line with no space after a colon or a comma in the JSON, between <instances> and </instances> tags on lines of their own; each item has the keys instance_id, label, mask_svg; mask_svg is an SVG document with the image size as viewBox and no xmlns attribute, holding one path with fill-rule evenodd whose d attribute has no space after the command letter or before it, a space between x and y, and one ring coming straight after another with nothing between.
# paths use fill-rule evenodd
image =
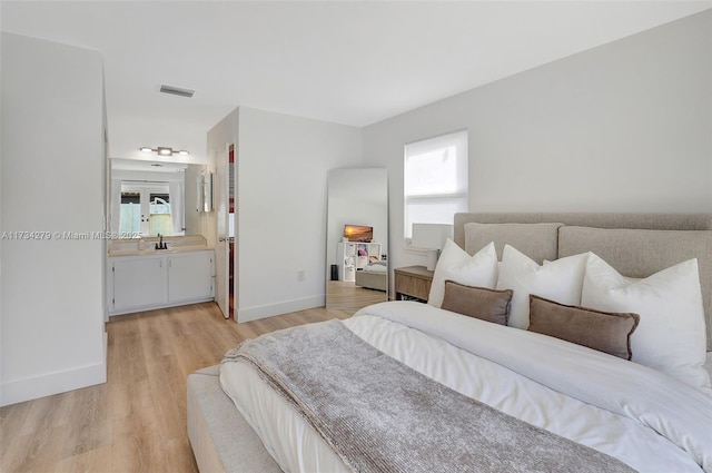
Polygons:
<instances>
[{"instance_id":1,"label":"beige upholstered headboard behind the bed pillows","mask_svg":"<svg viewBox=\"0 0 712 473\"><path fill-rule=\"evenodd\" d=\"M465 239L468 224L485 224L478 231L481 242ZM495 242L500 257L510 244L538 263L593 252L629 277L647 277L698 258L712 351L712 214L455 214L454 239L469 254Z\"/></svg>"}]
</instances>

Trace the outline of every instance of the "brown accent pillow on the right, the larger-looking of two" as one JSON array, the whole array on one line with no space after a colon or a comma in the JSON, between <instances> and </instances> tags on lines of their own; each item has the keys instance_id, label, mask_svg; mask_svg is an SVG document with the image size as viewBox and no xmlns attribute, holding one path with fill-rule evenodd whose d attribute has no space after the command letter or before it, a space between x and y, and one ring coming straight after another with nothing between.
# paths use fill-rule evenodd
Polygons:
<instances>
[{"instance_id":1,"label":"brown accent pillow on the right, the larger-looking of two","mask_svg":"<svg viewBox=\"0 0 712 473\"><path fill-rule=\"evenodd\" d=\"M530 295L531 332L565 339L577 345L631 359L631 335L641 317L570 306Z\"/></svg>"}]
</instances>

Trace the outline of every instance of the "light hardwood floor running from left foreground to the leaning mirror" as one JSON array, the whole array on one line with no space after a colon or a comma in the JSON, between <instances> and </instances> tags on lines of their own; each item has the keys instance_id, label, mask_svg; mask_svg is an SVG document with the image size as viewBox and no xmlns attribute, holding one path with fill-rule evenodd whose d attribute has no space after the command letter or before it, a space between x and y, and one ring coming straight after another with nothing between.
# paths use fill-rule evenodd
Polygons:
<instances>
[{"instance_id":1,"label":"light hardwood floor running from left foreground to the leaning mirror","mask_svg":"<svg viewBox=\"0 0 712 473\"><path fill-rule=\"evenodd\" d=\"M111 317L106 384L0 408L0 471L197 472L188 374L245 338L352 313L315 308L235 324L205 303Z\"/></svg>"}]
</instances>

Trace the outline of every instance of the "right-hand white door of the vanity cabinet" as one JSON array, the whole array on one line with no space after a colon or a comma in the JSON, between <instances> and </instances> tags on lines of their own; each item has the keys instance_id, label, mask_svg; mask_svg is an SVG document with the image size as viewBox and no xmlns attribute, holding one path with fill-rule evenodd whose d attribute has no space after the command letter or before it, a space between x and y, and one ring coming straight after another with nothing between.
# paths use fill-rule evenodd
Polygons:
<instances>
[{"instance_id":1,"label":"right-hand white door of the vanity cabinet","mask_svg":"<svg viewBox=\"0 0 712 473\"><path fill-rule=\"evenodd\" d=\"M212 252L168 257L168 302L212 297Z\"/></svg>"}]
</instances>

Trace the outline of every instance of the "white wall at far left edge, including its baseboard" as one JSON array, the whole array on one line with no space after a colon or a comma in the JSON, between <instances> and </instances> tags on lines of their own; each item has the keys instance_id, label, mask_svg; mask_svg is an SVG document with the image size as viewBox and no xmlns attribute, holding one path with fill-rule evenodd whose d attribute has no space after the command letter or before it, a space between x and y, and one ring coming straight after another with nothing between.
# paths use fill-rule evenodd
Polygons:
<instances>
[{"instance_id":1,"label":"white wall at far left edge, including its baseboard","mask_svg":"<svg viewBox=\"0 0 712 473\"><path fill-rule=\"evenodd\" d=\"M0 404L106 382L101 239L106 205L102 60L2 33Z\"/></svg>"}]
</instances>

